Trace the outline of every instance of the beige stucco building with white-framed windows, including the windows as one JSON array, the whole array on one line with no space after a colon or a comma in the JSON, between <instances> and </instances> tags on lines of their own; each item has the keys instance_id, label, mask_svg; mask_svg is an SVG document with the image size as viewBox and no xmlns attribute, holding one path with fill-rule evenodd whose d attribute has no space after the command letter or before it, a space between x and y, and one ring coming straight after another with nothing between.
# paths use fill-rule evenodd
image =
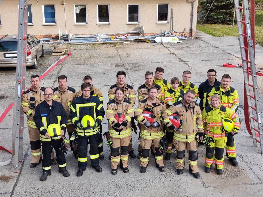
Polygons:
<instances>
[{"instance_id":1,"label":"beige stucco building with white-framed windows, including the windows","mask_svg":"<svg viewBox=\"0 0 263 197\"><path fill-rule=\"evenodd\" d=\"M59 29L67 34L69 30L72 34L106 34L137 30L143 25L146 35L173 27L191 36L193 27L194 36L197 4L195 1L192 9L193 0L31 0L28 33L53 38L58 37ZM17 32L18 0L2 0L0 37Z\"/></svg>"}]
</instances>

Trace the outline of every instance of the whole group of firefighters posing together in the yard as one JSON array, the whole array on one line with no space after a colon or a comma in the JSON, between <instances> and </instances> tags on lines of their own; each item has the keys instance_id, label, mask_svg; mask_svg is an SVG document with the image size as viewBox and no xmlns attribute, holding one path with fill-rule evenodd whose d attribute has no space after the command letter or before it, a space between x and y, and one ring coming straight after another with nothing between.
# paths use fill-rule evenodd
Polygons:
<instances>
[{"instance_id":1,"label":"whole group of firefighters posing together in the yard","mask_svg":"<svg viewBox=\"0 0 263 197\"><path fill-rule=\"evenodd\" d=\"M67 85L65 75L58 77L55 88L42 87L39 76L32 75L32 86L22 95L21 105L27 115L30 167L42 162L40 180L47 180L51 166L56 164L59 173L69 176L65 158L69 148L78 159L77 176L82 176L88 164L88 145L92 168L102 172L99 159L104 159L103 138L110 148L111 173L117 174L118 167L129 173L128 157L136 158L133 142L137 137L133 139L132 132L138 133L141 173L146 172L150 152L155 166L164 172L164 160L170 160L171 149L175 148L177 174L183 174L187 150L189 171L199 178L197 149L202 144L206 146L206 173L211 171L213 163L216 172L223 173L224 149L231 164L238 166L234 136L241 125L236 114L239 97L230 86L231 77L225 74L219 82L216 70L209 69L208 79L197 88L190 82L188 70L183 72L181 81L173 77L171 85L163 79L163 74L161 67L156 68L155 74L145 73L145 83L137 90L139 104L134 109L135 90L126 84L126 73L118 71L116 84L108 90L106 110L102 106L102 91L93 86L89 75L83 78L78 92ZM105 114L108 128L102 128Z\"/></svg>"}]
</instances>

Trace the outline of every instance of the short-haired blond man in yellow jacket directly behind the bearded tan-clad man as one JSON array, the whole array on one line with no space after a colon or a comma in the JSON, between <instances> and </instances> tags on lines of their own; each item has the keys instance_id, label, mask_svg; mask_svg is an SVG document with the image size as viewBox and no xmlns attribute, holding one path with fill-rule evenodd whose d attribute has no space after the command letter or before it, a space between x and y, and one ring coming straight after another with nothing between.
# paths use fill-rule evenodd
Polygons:
<instances>
[{"instance_id":1,"label":"short-haired blond man in yellow jacket directly behind the bearded tan-clad man","mask_svg":"<svg viewBox=\"0 0 263 197\"><path fill-rule=\"evenodd\" d=\"M195 100L197 100L197 98L199 97L198 89L195 84L190 82L191 75L192 73L189 70L185 70L183 72L183 80L180 82L179 88L183 90L184 93L187 92L188 90L193 90L195 92Z\"/></svg>"}]
</instances>

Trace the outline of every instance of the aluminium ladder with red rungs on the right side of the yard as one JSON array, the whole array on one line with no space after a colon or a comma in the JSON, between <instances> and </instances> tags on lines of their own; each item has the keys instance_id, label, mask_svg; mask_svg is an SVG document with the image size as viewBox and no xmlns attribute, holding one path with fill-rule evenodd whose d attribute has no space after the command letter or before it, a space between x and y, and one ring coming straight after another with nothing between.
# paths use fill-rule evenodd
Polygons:
<instances>
[{"instance_id":1,"label":"aluminium ladder with red rungs on the right side of the yard","mask_svg":"<svg viewBox=\"0 0 263 197\"><path fill-rule=\"evenodd\" d=\"M247 108L247 110L245 109L245 121L246 123L248 123L248 120L246 120L248 111L250 125L246 124L247 130L250 134L252 134L254 147L257 147L258 142L260 144L261 154L263 154L263 127L260 117L259 94L256 77L257 72L255 65L253 40L251 38L248 2L247 0L243 0L244 7L239 6L239 0L234 0L234 2L237 18L237 27L239 32L239 45L244 72L244 108ZM244 11L244 21L242 21L241 19L240 10ZM242 24L244 24L244 33L242 32ZM250 66L248 66L248 64L250 64ZM251 79L249 81L249 75L251 76L252 81ZM259 139L257 137L259 137Z\"/></svg>"}]
</instances>

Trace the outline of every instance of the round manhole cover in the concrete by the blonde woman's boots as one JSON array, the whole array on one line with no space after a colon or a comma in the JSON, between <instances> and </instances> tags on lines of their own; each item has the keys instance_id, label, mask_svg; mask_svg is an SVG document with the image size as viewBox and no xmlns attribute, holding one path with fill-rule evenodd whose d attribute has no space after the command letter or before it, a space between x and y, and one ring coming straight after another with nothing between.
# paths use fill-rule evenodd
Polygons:
<instances>
[{"instance_id":1,"label":"round manhole cover in the concrete by the blonde woman's boots","mask_svg":"<svg viewBox=\"0 0 263 197\"><path fill-rule=\"evenodd\" d=\"M211 173L221 179L232 179L239 177L242 174L242 169L240 167L232 166L232 164L224 162L223 165L223 174L217 174L215 165L211 168Z\"/></svg>"}]
</instances>

